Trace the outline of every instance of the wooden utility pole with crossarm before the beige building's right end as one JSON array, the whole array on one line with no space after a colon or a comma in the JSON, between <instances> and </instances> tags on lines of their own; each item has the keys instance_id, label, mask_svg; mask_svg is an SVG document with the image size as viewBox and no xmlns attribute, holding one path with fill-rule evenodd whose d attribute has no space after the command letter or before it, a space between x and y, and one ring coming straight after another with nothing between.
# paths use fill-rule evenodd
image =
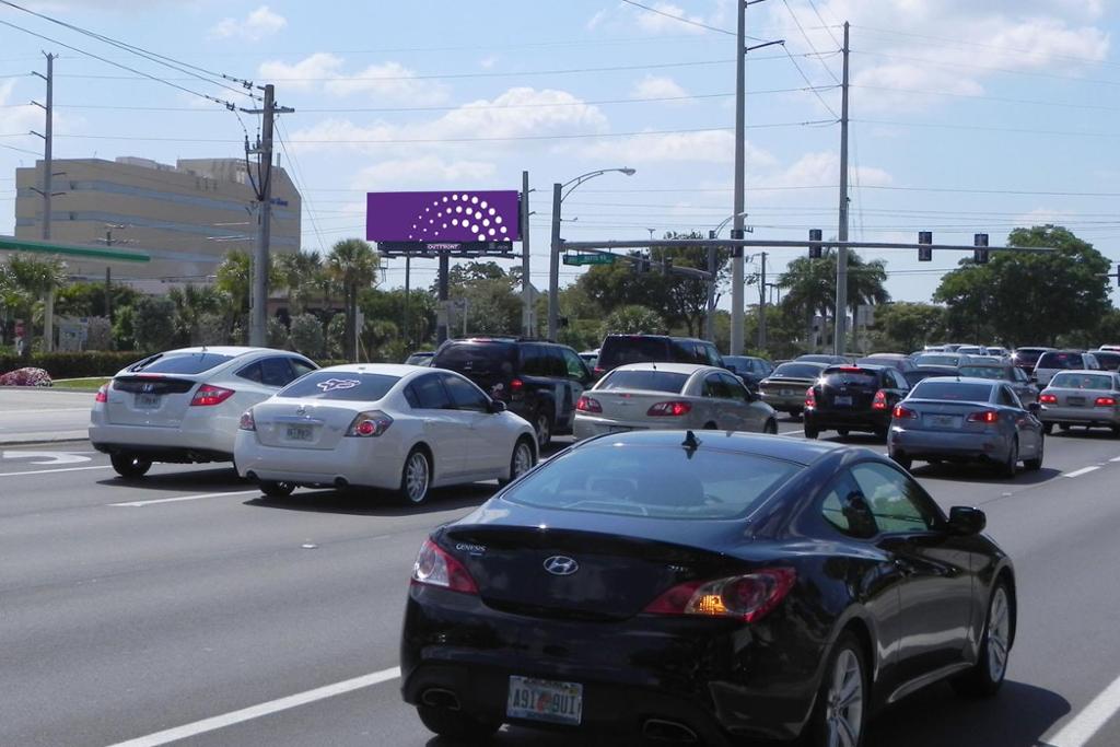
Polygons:
<instances>
[{"instance_id":1,"label":"wooden utility pole with crossarm before the beige building's right end","mask_svg":"<svg viewBox=\"0 0 1120 747\"><path fill-rule=\"evenodd\" d=\"M256 249L253 252L253 283L249 304L249 344L263 347L268 344L268 304L269 304L269 240L272 231L272 125L277 114L290 114L295 109L276 105L276 86L269 83L264 86L264 108L243 109L248 114L262 114L261 138L256 147L250 149L245 143L245 153L258 157L256 190L258 230ZM252 174L249 175L253 180ZM355 351L355 354L357 351ZM356 355L355 358L357 360Z\"/></svg>"}]
</instances>

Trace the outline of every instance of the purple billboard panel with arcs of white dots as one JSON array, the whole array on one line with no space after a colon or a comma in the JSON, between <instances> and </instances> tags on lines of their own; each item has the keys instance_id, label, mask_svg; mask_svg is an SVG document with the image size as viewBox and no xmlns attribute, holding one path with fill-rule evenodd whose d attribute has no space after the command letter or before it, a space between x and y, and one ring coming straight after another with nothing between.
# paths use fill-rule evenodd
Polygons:
<instances>
[{"instance_id":1,"label":"purple billboard panel with arcs of white dots","mask_svg":"<svg viewBox=\"0 0 1120 747\"><path fill-rule=\"evenodd\" d=\"M376 242L477 243L521 239L521 193L371 192L365 237Z\"/></svg>"}]
</instances>

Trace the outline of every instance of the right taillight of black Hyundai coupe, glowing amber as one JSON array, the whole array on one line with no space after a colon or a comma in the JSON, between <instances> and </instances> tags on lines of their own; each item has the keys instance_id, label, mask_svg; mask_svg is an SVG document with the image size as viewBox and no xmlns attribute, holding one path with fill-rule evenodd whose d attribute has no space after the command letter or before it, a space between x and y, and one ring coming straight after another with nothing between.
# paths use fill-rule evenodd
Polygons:
<instances>
[{"instance_id":1,"label":"right taillight of black Hyundai coupe, glowing amber","mask_svg":"<svg viewBox=\"0 0 1120 747\"><path fill-rule=\"evenodd\" d=\"M688 581L674 586L651 603L653 615L734 617L755 623L769 614L793 588L792 568L768 568L715 581Z\"/></svg>"}]
</instances>

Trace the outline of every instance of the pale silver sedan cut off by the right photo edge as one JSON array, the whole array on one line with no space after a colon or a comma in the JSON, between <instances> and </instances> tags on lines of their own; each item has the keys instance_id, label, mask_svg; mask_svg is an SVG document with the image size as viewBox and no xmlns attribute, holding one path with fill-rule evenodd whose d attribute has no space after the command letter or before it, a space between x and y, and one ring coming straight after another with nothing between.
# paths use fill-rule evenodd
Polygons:
<instances>
[{"instance_id":1,"label":"pale silver sedan cut off by the right photo edge","mask_svg":"<svg viewBox=\"0 0 1120 747\"><path fill-rule=\"evenodd\" d=\"M1063 371L1038 395L1046 432L1055 424L1111 428L1120 436L1120 375L1112 371Z\"/></svg>"}]
</instances>

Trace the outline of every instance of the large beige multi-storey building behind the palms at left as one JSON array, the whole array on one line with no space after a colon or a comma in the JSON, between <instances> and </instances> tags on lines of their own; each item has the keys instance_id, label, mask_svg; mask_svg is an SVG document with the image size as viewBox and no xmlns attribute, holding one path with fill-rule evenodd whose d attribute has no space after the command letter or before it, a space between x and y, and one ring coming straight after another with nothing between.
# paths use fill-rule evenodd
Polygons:
<instances>
[{"instance_id":1,"label":"large beige multi-storey building behind the palms at left","mask_svg":"<svg viewBox=\"0 0 1120 747\"><path fill-rule=\"evenodd\" d=\"M176 166L143 158L56 159L50 241L111 245L151 261L65 258L72 277L206 282L232 249L252 251L255 196L244 159L181 159ZM272 171L272 253L300 246L300 196L283 169ZM43 236L43 164L16 169L16 237ZM2 254L2 253L0 253ZM146 286L161 283L147 282Z\"/></svg>"}]
</instances>

